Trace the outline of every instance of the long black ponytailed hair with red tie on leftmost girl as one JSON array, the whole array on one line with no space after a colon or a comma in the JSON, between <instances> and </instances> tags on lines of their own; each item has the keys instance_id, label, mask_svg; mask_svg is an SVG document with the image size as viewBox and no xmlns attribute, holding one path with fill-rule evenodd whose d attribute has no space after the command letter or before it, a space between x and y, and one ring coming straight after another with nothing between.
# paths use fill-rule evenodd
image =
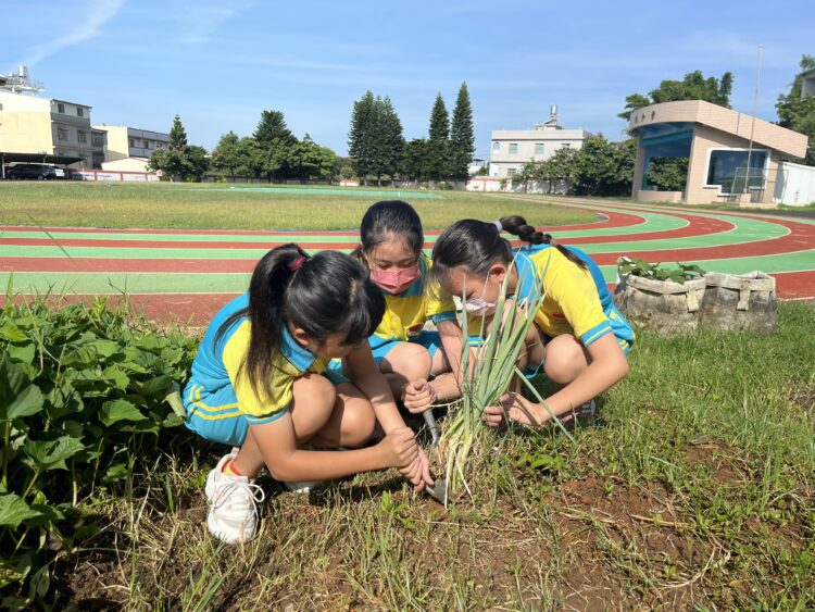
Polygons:
<instances>
[{"instance_id":1,"label":"long black ponytailed hair with red tie on leftmost girl","mask_svg":"<svg viewBox=\"0 0 815 612\"><path fill-rule=\"evenodd\" d=\"M383 292L360 262L336 251L309 257L289 243L258 262L249 284L249 307L221 325L216 341L248 316L252 334L239 375L246 372L255 392L271 395L268 372L284 325L300 327L321 345L339 333L346 335L344 345L358 345L374 333L384 314Z\"/></svg>"}]
</instances>

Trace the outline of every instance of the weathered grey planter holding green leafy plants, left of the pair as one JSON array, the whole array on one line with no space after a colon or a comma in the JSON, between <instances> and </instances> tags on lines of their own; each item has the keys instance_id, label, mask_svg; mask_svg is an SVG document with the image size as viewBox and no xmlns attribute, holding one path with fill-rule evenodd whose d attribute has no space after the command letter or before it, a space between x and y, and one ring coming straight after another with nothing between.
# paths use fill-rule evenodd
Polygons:
<instances>
[{"instance_id":1,"label":"weathered grey planter holding green leafy plants, left of the pair","mask_svg":"<svg viewBox=\"0 0 815 612\"><path fill-rule=\"evenodd\" d=\"M614 303L629 322L663 336L694 332L705 291L704 278L685 283L619 275Z\"/></svg>"}]
</instances>

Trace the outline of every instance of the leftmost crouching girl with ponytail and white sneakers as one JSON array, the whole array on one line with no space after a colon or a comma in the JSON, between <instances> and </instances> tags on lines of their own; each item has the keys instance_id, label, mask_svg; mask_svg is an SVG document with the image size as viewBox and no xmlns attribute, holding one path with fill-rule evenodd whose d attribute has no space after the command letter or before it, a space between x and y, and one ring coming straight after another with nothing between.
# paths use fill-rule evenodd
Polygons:
<instances>
[{"instance_id":1,"label":"leftmost crouching girl with ponytail and white sneakers","mask_svg":"<svg viewBox=\"0 0 815 612\"><path fill-rule=\"evenodd\" d=\"M366 341L384 310L359 262L286 245L266 253L249 292L215 315L184 391L187 427L240 446L206 477L214 536L231 544L254 535L263 501L254 479L264 464L288 484L385 467L398 467L417 490L432 483ZM346 358L354 384L335 388L322 376L334 358ZM360 447L377 421L386 436L376 446L303 448Z\"/></svg>"}]
</instances>

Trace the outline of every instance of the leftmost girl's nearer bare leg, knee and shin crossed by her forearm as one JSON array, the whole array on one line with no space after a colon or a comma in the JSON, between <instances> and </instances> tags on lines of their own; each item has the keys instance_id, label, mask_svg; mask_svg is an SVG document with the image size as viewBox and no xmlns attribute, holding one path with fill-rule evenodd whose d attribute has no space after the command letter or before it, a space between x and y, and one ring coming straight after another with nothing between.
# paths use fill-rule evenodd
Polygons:
<instances>
[{"instance_id":1,"label":"leftmost girl's nearer bare leg, knee and shin crossed by her forearm","mask_svg":"<svg viewBox=\"0 0 815 612\"><path fill-rule=\"evenodd\" d=\"M291 387L293 399L289 405L289 413L294 425L294 436L299 445L311 440L322 429L331 416L337 392L327 378L318 374L305 374L294 380ZM308 405L305 410L297 410L298 405ZM243 446L238 457L231 463L233 467L250 479L260 474L263 469L263 455L252 430L247 432Z\"/></svg>"}]
</instances>

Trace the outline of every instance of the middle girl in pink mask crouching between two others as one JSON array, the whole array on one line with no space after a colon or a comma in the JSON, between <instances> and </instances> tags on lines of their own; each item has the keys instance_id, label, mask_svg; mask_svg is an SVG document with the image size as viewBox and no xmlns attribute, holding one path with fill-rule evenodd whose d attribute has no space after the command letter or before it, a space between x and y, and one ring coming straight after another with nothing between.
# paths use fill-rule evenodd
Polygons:
<instances>
[{"instance_id":1,"label":"middle girl in pink mask crouching between two others","mask_svg":"<svg viewBox=\"0 0 815 612\"><path fill-rule=\"evenodd\" d=\"M456 377L438 375L452 370L460 376L461 328L452 299L440 300L428 282L418 214L408 202L377 202L362 217L360 241L352 255L368 267L386 303L371 348L394 397L413 413L459 397ZM427 321L438 330L425 330ZM432 376L438 377L429 383Z\"/></svg>"}]
</instances>

